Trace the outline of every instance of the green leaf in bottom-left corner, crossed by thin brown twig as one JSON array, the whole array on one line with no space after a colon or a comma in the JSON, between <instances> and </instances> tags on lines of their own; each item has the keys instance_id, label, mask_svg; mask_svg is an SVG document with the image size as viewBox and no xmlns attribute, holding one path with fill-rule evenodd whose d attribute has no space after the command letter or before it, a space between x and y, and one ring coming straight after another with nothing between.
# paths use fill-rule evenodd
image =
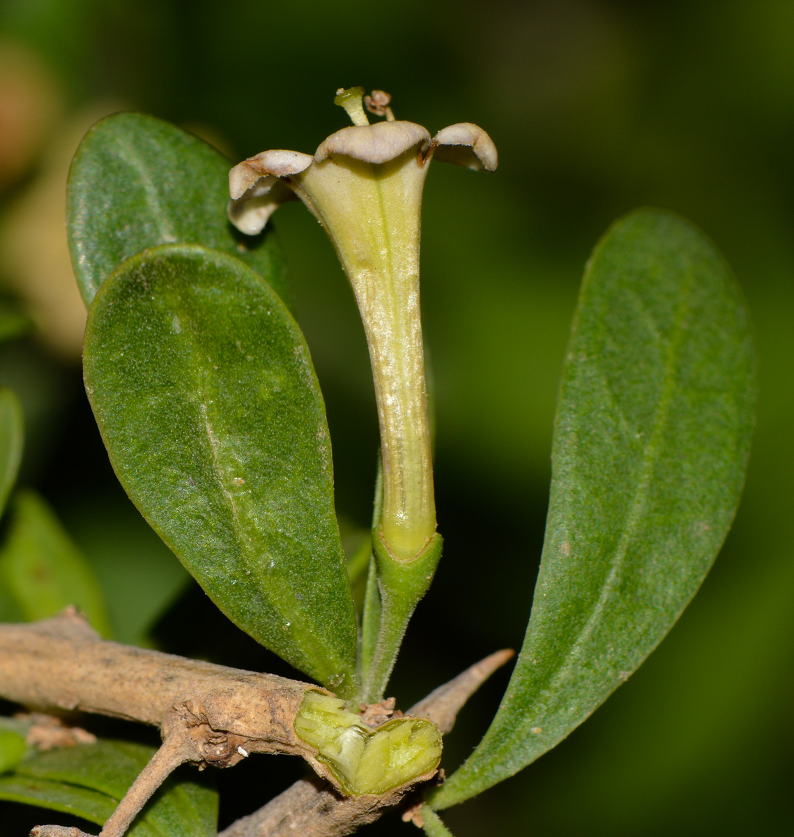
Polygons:
<instances>
[{"instance_id":1,"label":"green leaf in bottom-left corner, crossed by thin brown twig","mask_svg":"<svg viewBox=\"0 0 794 837\"><path fill-rule=\"evenodd\" d=\"M0 799L104 824L154 755L153 747L100 741L42 752L0 777ZM218 793L172 776L134 820L130 837L215 837Z\"/></svg>"}]
</instances>

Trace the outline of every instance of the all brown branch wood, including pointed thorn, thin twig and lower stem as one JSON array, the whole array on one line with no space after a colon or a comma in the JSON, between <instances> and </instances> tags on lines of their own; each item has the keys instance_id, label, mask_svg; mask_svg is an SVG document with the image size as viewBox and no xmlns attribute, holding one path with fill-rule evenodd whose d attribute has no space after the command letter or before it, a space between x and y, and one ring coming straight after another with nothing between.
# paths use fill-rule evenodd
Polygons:
<instances>
[{"instance_id":1,"label":"all brown branch wood, including pointed thorn, thin twig and lower stem","mask_svg":"<svg viewBox=\"0 0 794 837\"><path fill-rule=\"evenodd\" d=\"M448 732L469 696L510 656L511 651L490 655L407 714L428 716ZM323 781L335 780L294 731L310 690L325 692L299 680L108 642L72 609L35 624L0 624L0 697L43 711L96 712L160 727L166 739L161 755L166 757L172 742L174 766L192 761L231 767L243 758L240 747L246 753L300 755L315 768L319 776L295 783L222 837L279 837L294 835L296 828L304 837L341 837L378 819L411 790L413 782L387 794L349 798ZM144 774L138 783L146 784ZM139 807L114 816L125 820ZM110 820L105 829L109 825ZM41 829L47 837L63 831Z\"/></svg>"}]
</instances>

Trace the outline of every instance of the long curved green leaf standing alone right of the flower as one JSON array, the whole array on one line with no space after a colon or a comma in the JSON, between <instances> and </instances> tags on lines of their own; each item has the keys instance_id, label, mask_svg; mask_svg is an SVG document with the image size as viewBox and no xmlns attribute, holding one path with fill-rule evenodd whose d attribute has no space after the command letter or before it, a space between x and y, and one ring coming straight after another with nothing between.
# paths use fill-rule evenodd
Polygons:
<instances>
[{"instance_id":1,"label":"long curved green leaf standing alone right of the flower","mask_svg":"<svg viewBox=\"0 0 794 837\"><path fill-rule=\"evenodd\" d=\"M562 372L524 647L433 808L555 747L663 639L735 514L755 395L747 311L714 245L661 210L617 222L588 264Z\"/></svg>"}]
</instances>

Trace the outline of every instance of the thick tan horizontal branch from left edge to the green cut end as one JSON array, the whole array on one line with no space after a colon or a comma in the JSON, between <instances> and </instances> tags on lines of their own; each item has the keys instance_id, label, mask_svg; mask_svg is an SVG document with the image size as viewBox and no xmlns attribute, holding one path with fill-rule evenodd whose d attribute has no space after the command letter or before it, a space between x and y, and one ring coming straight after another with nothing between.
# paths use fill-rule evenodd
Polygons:
<instances>
[{"instance_id":1,"label":"thick tan horizontal branch from left edge to the green cut end","mask_svg":"<svg viewBox=\"0 0 794 837\"><path fill-rule=\"evenodd\" d=\"M84 711L192 732L187 758L231 767L251 752L301 756L331 783L295 734L306 691L320 686L186 660L101 639L76 611L0 625L0 697L42 711Z\"/></svg>"}]
</instances>

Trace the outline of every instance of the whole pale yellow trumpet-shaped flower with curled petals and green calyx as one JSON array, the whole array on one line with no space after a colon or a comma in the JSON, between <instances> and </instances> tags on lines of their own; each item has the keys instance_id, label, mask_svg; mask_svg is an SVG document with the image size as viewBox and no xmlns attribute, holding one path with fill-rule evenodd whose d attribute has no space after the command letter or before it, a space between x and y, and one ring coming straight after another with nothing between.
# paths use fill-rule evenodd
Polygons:
<instances>
[{"instance_id":1,"label":"whole pale yellow trumpet-shaped flower with curled petals and green calyx","mask_svg":"<svg viewBox=\"0 0 794 837\"><path fill-rule=\"evenodd\" d=\"M327 137L314 156L263 151L233 167L228 215L241 232L258 234L281 203L297 196L329 234L356 295L381 431L382 502L372 537L382 600L378 647L396 643L391 659L375 666L385 687L441 554L419 308L424 180L433 158L493 172L497 153L476 125L461 122L430 136L423 126L395 120L381 90L363 92L337 91L336 104L354 124ZM365 107L386 120L371 125ZM373 685L369 696L379 691Z\"/></svg>"}]
</instances>

